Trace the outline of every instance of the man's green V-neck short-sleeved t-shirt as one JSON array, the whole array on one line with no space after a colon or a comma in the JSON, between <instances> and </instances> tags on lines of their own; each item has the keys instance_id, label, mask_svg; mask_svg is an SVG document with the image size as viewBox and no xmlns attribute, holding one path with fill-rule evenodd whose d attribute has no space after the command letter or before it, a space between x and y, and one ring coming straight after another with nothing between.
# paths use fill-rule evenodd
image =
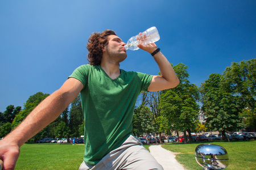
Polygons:
<instances>
[{"instance_id":1,"label":"man's green V-neck short-sleeved t-shirt","mask_svg":"<svg viewBox=\"0 0 256 170\"><path fill-rule=\"evenodd\" d=\"M118 78L111 79L100 66L82 65L69 78L84 84L84 161L94 165L131 134L137 97L147 91L152 75L121 70Z\"/></svg>"}]
</instances>

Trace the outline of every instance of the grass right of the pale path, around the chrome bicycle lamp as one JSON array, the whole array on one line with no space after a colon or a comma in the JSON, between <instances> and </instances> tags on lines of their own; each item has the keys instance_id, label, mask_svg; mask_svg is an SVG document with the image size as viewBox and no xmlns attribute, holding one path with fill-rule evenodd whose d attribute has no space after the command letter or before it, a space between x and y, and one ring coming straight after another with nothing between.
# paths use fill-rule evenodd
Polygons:
<instances>
[{"instance_id":1,"label":"grass right of the pale path, around the chrome bicycle lamp","mask_svg":"<svg viewBox=\"0 0 256 170\"><path fill-rule=\"evenodd\" d=\"M180 152L176 155L179 163L186 169L202 169L195 159L195 148L200 144L210 143L220 145L226 149L229 155L229 166L226 169L256 169L256 141L232 141L232 142L195 142L189 144L172 143L162 145L172 152Z\"/></svg>"}]
</instances>

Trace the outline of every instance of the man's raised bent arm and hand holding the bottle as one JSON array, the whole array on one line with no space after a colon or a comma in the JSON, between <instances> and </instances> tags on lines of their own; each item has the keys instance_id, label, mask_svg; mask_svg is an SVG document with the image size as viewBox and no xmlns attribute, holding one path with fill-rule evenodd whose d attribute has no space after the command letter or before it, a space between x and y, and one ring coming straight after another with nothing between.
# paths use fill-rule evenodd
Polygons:
<instances>
[{"instance_id":1,"label":"man's raised bent arm and hand holding the bottle","mask_svg":"<svg viewBox=\"0 0 256 170\"><path fill-rule=\"evenodd\" d=\"M145 50L148 53L153 53L157 46L152 43L146 46L141 44L138 45L139 48ZM156 53L154 56L156 63L159 66L161 75L154 75L150 86L148 87L148 91L161 91L169 88L176 87L180 81L177 78L174 69L172 68L170 62L161 52Z\"/></svg>"}]
</instances>

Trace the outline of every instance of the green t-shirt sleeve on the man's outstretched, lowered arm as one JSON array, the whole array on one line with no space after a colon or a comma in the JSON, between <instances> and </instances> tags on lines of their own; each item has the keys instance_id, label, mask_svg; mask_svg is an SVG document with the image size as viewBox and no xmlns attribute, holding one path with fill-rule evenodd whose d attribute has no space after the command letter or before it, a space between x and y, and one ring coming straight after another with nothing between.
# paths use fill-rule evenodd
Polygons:
<instances>
[{"instance_id":1,"label":"green t-shirt sleeve on the man's outstretched, lowered arm","mask_svg":"<svg viewBox=\"0 0 256 170\"><path fill-rule=\"evenodd\" d=\"M74 70L73 73L68 78L75 78L79 80L85 87L88 82L88 72L89 72L88 65L82 65L80 67L77 67L77 69Z\"/></svg>"}]
</instances>

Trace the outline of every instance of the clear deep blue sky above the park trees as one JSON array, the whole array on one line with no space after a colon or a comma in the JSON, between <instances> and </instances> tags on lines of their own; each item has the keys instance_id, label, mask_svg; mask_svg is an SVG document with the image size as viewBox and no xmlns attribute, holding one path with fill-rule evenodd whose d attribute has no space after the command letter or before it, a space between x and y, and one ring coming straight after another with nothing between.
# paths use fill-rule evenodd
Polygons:
<instances>
[{"instance_id":1,"label":"clear deep blue sky above the park trees","mask_svg":"<svg viewBox=\"0 0 256 170\"><path fill-rule=\"evenodd\" d=\"M29 96L52 94L88 63L92 32L113 29L125 42L152 26L173 64L200 86L232 62L255 58L256 1L0 1L0 112ZM143 50L127 50L121 69L158 74Z\"/></svg>"}]
</instances>

